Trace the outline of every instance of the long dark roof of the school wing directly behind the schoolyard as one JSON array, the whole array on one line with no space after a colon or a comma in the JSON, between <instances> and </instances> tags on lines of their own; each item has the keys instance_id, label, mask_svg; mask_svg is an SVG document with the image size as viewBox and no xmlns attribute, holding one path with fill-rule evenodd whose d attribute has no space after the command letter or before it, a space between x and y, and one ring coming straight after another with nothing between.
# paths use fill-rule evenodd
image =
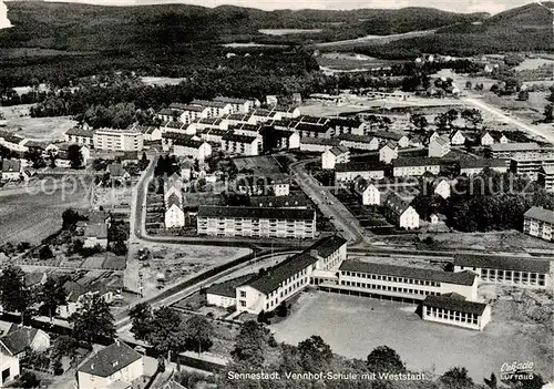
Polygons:
<instances>
[{"instance_id":1,"label":"long dark roof of the school wing directly behind the schoolyard","mask_svg":"<svg viewBox=\"0 0 554 389\"><path fill-rule=\"evenodd\" d=\"M367 274L378 274L393 277L404 277L420 280L432 280L437 283L447 283L455 285L473 285L476 275L471 272L441 272L433 269L424 269L420 267L397 266L376 264L370 262L345 260L340 265L342 272L358 272Z\"/></svg>"}]
</instances>

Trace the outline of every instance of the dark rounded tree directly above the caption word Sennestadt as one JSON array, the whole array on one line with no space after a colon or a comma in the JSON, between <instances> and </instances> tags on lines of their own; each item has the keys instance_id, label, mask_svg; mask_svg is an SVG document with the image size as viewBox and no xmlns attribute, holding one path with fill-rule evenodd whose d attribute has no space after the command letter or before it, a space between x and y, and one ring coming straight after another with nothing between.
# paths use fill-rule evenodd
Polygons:
<instances>
[{"instance_id":1,"label":"dark rounded tree directly above the caption word Sennestadt","mask_svg":"<svg viewBox=\"0 0 554 389\"><path fill-rule=\"evenodd\" d=\"M268 339L269 331L264 325L254 320L244 323L236 337L235 349L232 351L233 360L253 367L261 367Z\"/></svg>"}]
</instances>

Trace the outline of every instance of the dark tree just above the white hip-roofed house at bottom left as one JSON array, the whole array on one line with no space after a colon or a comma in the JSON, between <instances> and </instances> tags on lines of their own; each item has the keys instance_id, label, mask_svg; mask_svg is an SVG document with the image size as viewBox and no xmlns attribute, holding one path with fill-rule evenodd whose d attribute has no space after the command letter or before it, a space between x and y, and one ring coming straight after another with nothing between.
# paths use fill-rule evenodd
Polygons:
<instances>
[{"instance_id":1,"label":"dark tree just above the white hip-roofed house at bottom left","mask_svg":"<svg viewBox=\"0 0 554 389\"><path fill-rule=\"evenodd\" d=\"M107 303L99 295L86 296L81 309L70 316L73 337L92 344L98 338L113 339L115 326Z\"/></svg>"}]
</instances>

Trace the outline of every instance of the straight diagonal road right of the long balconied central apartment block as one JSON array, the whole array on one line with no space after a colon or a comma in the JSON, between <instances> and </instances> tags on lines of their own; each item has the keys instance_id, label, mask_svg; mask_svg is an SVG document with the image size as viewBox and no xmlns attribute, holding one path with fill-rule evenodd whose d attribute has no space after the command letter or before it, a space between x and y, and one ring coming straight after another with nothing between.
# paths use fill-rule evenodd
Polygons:
<instances>
[{"instance_id":1,"label":"straight diagonal road right of the long balconied central apartment block","mask_svg":"<svg viewBox=\"0 0 554 389\"><path fill-rule=\"evenodd\" d=\"M290 173L298 186L316 203L321 213L331 219L335 227L349 240L350 247L367 244L365 229L356 217L332 195L328 187L321 186L316 178L306 172L306 165L317 161L320 158L299 161L289 165Z\"/></svg>"}]
</instances>

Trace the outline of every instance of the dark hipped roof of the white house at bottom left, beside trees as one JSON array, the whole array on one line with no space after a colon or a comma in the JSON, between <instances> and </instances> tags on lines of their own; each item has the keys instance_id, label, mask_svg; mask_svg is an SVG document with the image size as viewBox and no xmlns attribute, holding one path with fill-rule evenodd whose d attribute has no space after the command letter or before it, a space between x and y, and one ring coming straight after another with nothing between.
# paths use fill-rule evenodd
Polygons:
<instances>
[{"instance_id":1,"label":"dark hipped roof of the white house at bottom left, beside trees","mask_svg":"<svg viewBox=\"0 0 554 389\"><path fill-rule=\"evenodd\" d=\"M115 340L114 344L98 351L86 362L81 365L79 371L92 376L110 377L141 358L142 356L131 347Z\"/></svg>"}]
</instances>

